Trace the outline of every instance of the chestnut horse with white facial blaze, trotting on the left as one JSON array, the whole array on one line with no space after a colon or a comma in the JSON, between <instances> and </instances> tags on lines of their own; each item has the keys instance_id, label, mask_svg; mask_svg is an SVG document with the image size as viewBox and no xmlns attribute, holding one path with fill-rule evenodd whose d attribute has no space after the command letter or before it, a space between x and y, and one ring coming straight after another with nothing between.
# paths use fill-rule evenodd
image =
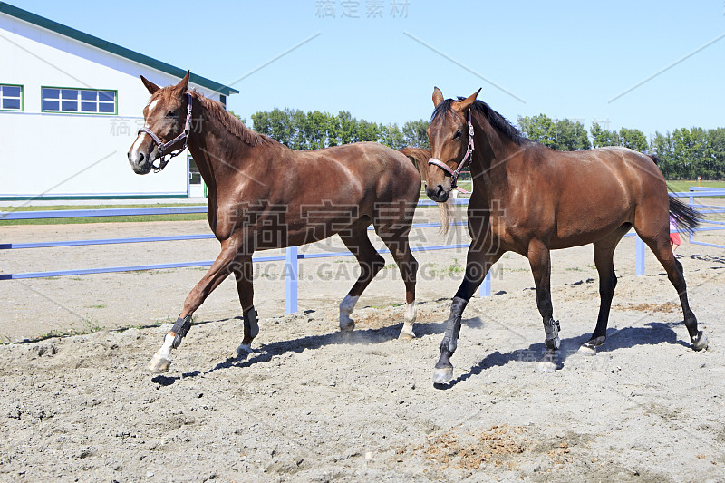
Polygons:
<instances>
[{"instance_id":1,"label":"chestnut horse with white facial blaze, trotting on the left","mask_svg":"<svg viewBox=\"0 0 725 483\"><path fill-rule=\"evenodd\" d=\"M221 253L151 358L150 372L169 369L171 350L189 332L191 315L230 274L237 279L244 319L237 353L252 351L259 332L252 283L257 249L299 246L338 234L360 264L360 275L340 304L340 329L352 331L354 306L384 266L367 235L371 223L405 285L400 337L415 337L418 264L408 235L420 196L421 175L414 164L427 168L429 151L398 151L372 142L290 150L249 130L219 102L189 90L189 72L164 88L143 76L141 82L151 98L143 109L145 125L128 154L131 168L140 175L158 172L169 162L169 152L173 157L188 147L208 187L208 223L221 244Z\"/></svg>"}]
</instances>

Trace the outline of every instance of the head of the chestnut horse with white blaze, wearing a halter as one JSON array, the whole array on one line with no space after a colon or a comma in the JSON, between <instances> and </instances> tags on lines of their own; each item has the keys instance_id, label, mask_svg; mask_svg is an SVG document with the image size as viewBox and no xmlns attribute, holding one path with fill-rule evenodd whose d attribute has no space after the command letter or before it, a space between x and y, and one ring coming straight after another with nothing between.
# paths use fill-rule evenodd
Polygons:
<instances>
[{"instance_id":1,"label":"head of the chestnut horse with white blaze, wearing a halter","mask_svg":"<svg viewBox=\"0 0 725 483\"><path fill-rule=\"evenodd\" d=\"M137 174L147 174L151 169L163 169L168 162L164 154L186 147L190 120L189 72L178 84L163 88L142 75L141 82L149 90L151 100L143 108L144 125L129 150L129 163ZM160 166L156 167L153 163L159 158Z\"/></svg>"}]
</instances>

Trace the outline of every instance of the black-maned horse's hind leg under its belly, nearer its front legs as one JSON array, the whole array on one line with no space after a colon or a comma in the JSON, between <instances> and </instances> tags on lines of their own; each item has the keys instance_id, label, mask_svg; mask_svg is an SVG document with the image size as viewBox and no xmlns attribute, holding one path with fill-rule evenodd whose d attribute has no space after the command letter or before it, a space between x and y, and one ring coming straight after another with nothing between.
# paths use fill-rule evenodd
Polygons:
<instances>
[{"instance_id":1,"label":"black-maned horse's hind leg under its belly, nearer its front legs","mask_svg":"<svg viewBox=\"0 0 725 483\"><path fill-rule=\"evenodd\" d=\"M617 286L617 275L614 274L614 249L631 227L630 224L624 224L608 237L594 242L594 265L599 273L599 316L596 318L592 337L579 348L581 354L594 355L596 348L606 341L609 310L612 307L614 288Z\"/></svg>"}]
</instances>

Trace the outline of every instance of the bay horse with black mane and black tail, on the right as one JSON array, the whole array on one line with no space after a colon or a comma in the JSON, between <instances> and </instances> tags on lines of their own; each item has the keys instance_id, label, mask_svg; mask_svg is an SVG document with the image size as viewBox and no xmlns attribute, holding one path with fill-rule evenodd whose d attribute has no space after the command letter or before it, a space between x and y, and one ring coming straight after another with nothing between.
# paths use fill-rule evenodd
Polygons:
<instances>
[{"instance_id":1,"label":"bay horse with black mane and black tail, on the right","mask_svg":"<svg viewBox=\"0 0 725 483\"><path fill-rule=\"evenodd\" d=\"M601 304L594 333L579 349L594 355L606 340L617 283L614 248L632 227L680 296L692 348L707 348L707 337L698 331L688 304L681 263L669 242L670 214L689 232L697 227L699 214L669 196L656 156L621 147L575 152L549 149L522 136L487 103L478 101L478 92L465 99L444 100L438 88L433 91L426 194L445 202L467 163L473 178L466 273L450 306L433 382L444 384L452 378L450 357L458 344L461 314L490 267L507 251L528 258L545 332L546 350L538 368L553 372L561 340L551 303L549 251L594 244Z\"/></svg>"}]
</instances>

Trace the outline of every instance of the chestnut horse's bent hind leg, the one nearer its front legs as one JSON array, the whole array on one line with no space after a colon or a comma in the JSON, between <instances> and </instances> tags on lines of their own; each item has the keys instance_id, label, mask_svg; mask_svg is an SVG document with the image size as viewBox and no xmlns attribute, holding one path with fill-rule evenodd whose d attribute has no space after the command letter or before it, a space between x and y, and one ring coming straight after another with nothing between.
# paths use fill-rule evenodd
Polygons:
<instances>
[{"instance_id":1,"label":"chestnut horse's bent hind leg, the one nearer its front legs","mask_svg":"<svg viewBox=\"0 0 725 483\"><path fill-rule=\"evenodd\" d=\"M355 328L355 322L350 318L350 314L353 314L362 292L385 266L385 259L378 254L368 237L367 229L370 223L369 217L362 217L338 234L360 264L357 281L340 303L340 330L343 332L350 332Z\"/></svg>"}]
</instances>

